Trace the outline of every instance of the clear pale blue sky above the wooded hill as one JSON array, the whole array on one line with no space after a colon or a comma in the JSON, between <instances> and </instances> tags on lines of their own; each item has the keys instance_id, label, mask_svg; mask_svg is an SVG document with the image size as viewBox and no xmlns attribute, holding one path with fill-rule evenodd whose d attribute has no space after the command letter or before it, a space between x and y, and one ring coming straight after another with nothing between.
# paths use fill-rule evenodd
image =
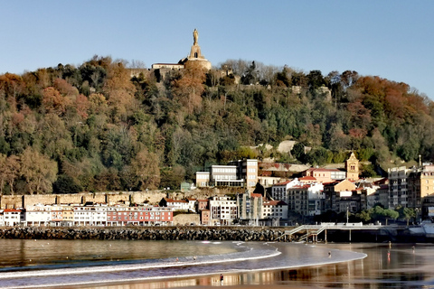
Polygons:
<instances>
[{"instance_id":1,"label":"clear pale blue sky above the wooded hill","mask_svg":"<svg viewBox=\"0 0 434 289\"><path fill-rule=\"evenodd\" d=\"M0 73L113 59L204 56L297 70L356 70L434 99L434 1L2 1Z\"/></svg>"}]
</instances>

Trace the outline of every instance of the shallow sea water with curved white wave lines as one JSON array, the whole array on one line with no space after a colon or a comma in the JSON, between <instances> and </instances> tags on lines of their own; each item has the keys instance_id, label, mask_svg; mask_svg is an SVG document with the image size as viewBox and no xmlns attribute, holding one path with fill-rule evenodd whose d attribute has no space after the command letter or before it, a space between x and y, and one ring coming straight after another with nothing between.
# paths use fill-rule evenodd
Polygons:
<instances>
[{"instance_id":1,"label":"shallow sea water with curved white wave lines","mask_svg":"<svg viewBox=\"0 0 434 289\"><path fill-rule=\"evenodd\" d=\"M1 239L0 287L122 284L320 266L366 254L272 242Z\"/></svg>"}]
</instances>

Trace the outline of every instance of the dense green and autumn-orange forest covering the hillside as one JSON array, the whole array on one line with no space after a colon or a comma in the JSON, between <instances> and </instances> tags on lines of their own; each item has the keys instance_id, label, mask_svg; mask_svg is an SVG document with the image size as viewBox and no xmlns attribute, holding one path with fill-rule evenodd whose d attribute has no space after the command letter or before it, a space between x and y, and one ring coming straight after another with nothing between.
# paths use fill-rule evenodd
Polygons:
<instances>
[{"instance_id":1,"label":"dense green and autumn-orange forest covering the hillside","mask_svg":"<svg viewBox=\"0 0 434 289\"><path fill-rule=\"evenodd\" d=\"M175 188L245 157L433 159L433 102L405 83L255 61L221 68L233 74L187 62L157 82L151 70L131 78L126 61L94 56L0 75L0 194ZM282 140L297 141L291 154L250 149Z\"/></svg>"}]
</instances>

